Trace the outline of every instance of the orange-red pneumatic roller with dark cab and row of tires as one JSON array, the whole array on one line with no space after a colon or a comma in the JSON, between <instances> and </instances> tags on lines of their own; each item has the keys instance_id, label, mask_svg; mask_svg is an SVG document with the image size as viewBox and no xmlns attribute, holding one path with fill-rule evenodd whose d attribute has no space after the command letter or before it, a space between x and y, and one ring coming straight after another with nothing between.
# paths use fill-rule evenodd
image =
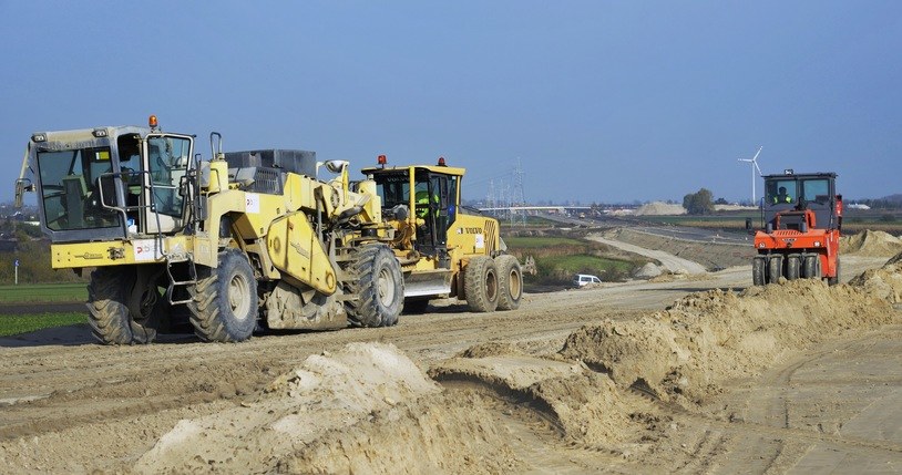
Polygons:
<instances>
[{"instance_id":1,"label":"orange-red pneumatic roller with dark cab and row of tires","mask_svg":"<svg viewBox=\"0 0 902 475\"><path fill-rule=\"evenodd\" d=\"M834 173L766 175L761 198L762 229L755 234L758 256L752 283L798 278L839 281L842 196Z\"/></svg>"}]
</instances>

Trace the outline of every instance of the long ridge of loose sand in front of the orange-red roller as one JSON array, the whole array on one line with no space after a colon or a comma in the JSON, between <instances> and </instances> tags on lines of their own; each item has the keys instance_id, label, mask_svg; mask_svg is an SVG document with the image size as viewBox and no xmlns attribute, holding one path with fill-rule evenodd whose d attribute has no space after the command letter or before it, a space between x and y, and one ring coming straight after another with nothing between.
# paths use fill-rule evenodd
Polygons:
<instances>
[{"instance_id":1,"label":"long ridge of loose sand in front of the orange-red roller","mask_svg":"<svg viewBox=\"0 0 902 475\"><path fill-rule=\"evenodd\" d=\"M567 338L561 354L685 405L716 394L725 378L750 376L786 354L853 327L888 323L892 309L867 290L797 280L740 295L711 290L638 321L607 320Z\"/></svg>"}]
</instances>

